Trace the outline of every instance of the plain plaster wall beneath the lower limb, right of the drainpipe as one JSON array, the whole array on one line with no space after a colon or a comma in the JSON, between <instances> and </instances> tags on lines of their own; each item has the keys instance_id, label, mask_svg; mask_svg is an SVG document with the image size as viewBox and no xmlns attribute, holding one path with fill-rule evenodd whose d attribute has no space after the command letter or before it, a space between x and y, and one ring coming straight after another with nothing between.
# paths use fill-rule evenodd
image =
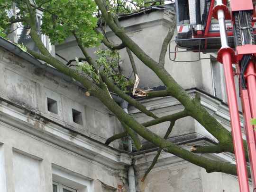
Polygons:
<instances>
[{"instance_id":1,"label":"plain plaster wall beneath the lower limb, right of the drainpipe","mask_svg":"<svg viewBox=\"0 0 256 192\"><path fill-rule=\"evenodd\" d=\"M182 147L189 150L192 144L209 144L205 141L192 142ZM238 178L223 173L207 173L204 168L177 158L162 151L155 167L141 182L147 168L151 165L156 151L146 154L137 154L134 158L134 167L137 176L137 192L238 192ZM210 159L230 159L224 155L206 155ZM252 191L252 184L250 190Z\"/></svg>"}]
</instances>

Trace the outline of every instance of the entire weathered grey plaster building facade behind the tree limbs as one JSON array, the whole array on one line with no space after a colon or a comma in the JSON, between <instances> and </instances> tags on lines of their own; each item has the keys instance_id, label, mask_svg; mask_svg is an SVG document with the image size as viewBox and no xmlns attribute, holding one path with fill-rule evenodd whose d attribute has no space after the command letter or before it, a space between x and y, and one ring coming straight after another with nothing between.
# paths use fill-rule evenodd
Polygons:
<instances>
[{"instance_id":1,"label":"entire weathered grey plaster building facade behind the tree limbs","mask_svg":"<svg viewBox=\"0 0 256 192\"><path fill-rule=\"evenodd\" d=\"M128 36L157 59L173 16L173 9L164 7L120 22ZM107 34L111 41L119 42L110 31ZM73 37L56 45L54 50L67 60L82 56ZM125 50L120 50L120 54L122 67L129 75L128 56ZM185 54L186 59L197 60L198 54ZM201 104L231 130L221 65L214 54L201 57L209 59L176 63L167 53L165 68L192 97L200 93ZM184 54L177 55L177 59L183 58ZM163 86L137 58L135 62L139 87ZM141 182L157 148L144 140L139 152L125 151L121 140L106 146L106 139L123 128L99 100L85 96L81 84L3 38L0 38L0 69L0 192L239 191L237 177L208 174L203 168L165 152ZM183 110L172 97L141 102L159 117ZM133 107L128 108L128 113L138 122L150 120ZM163 123L149 129L164 136L166 127ZM178 120L168 140L188 150L192 145L217 142L191 117ZM228 153L203 156L235 163L234 156Z\"/></svg>"}]
</instances>

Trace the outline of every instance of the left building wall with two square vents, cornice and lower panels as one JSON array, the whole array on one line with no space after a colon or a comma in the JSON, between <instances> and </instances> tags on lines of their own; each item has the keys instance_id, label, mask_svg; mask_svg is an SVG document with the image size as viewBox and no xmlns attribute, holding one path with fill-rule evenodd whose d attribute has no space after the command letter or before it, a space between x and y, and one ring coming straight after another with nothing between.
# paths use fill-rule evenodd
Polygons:
<instances>
[{"instance_id":1,"label":"left building wall with two square vents, cornice and lower panels","mask_svg":"<svg viewBox=\"0 0 256 192\"><path fill-rule=\"evenodd\" d=\"M77 192L128 191L131 157L101 143L122 130L99 100L1 48L0 81L1 192L52 192L53 181Z\"/></svg>"}]
</instances>

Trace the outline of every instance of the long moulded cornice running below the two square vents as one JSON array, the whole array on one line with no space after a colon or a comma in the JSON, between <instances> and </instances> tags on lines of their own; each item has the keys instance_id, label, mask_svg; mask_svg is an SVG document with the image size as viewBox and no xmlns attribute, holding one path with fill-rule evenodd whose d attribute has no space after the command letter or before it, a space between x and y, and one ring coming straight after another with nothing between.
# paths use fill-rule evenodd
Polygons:
<instances>
[{"instance_id":1,"label":"long moulded cornice running below the two square vents","mask_svg":"<svg viewBox=\"0 0 256 192\"><path fill-rule=\"evenodd\" d=\"M106 146L3 99L0 100L0 124L106 167L122 169L132 163L132 156L125 151Z\"/></svg>"}]
</instances>

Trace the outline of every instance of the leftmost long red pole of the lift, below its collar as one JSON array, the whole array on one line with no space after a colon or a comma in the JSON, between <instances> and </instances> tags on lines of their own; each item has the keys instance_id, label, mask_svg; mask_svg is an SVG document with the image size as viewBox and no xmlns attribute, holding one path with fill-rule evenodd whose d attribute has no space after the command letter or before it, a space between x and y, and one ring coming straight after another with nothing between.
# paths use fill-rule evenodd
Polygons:
<instances>
[{"instance_id":1,"label":"leftmost long red pole of the lift, below its collar","mask_svg":"<svg viewBox=\"0 0 256 192\"><path fill-rule=\"evenodd\" d=\"M222 60L229 102L230 124L232 128L234 150L236 155L239 187L241 192L249 192L245 152L241 134L240 119L238 115L238 104L233 78L232 61L229 51L224 51L222 53Z\"/></svg>"}]
</instances>

